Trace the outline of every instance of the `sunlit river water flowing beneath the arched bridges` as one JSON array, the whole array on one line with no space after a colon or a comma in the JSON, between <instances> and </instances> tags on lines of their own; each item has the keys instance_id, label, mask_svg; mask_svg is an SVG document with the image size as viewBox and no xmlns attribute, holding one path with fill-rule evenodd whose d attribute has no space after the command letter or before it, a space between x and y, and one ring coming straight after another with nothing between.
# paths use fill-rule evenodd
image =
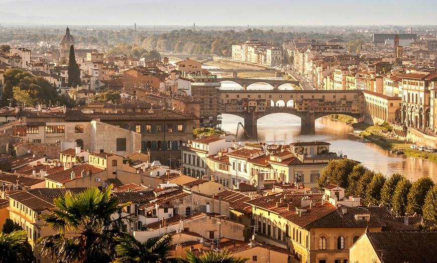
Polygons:
<instances>
[{"instance_id":1,"label":"sunlit river water flowing beneath the arched bridges","mask_svg":"<svg viewBox=\"0 0 437 263\"><path fill-rule=\"evenodd\" d=\"M221 77L220 73L213 74ZM234 82L222 82L222 89L241 89L241 86ZM271 87L268 84L257 83L250 85L248 89L271 89ZM235 134L237 123L240 121L244 123L242 117L223 114L222 128ZM260 141L283 141L283 144L297 141L323 141L331 144L331 152L341 152L349 159L359 161L367 168L386 176L399 172L408 179L417 180L429 176L437 182L437 163L406 155L396 156L375 144L360 143L357 141L358 137L353 134L353 127L341 121L319 118L314 126L301 127L299 117L287 113L275 113L258 119L257 125ZM399 147L402 147L402 144Z\"/></svg>"}]
</instances>

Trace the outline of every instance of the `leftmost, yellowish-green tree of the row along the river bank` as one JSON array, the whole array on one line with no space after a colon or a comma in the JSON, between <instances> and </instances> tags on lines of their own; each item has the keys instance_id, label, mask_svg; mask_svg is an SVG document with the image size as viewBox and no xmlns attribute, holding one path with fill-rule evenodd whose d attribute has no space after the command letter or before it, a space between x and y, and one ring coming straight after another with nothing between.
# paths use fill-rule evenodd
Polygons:
<instances>
[{"instance_id":1,"label":"leftmost, yellowish-green tree of the row along the river bank","mask_svg":"<svg viewBox=\"0 0 437 263\"><path fill-rule=\"evenodd\" d=\"M318 187L323 188L328 184L334 184L348 189L348 177L356 165L357 162L346 158L329 162L321 172L320 178L317 179Z\"/></svg>"}]
</instances>

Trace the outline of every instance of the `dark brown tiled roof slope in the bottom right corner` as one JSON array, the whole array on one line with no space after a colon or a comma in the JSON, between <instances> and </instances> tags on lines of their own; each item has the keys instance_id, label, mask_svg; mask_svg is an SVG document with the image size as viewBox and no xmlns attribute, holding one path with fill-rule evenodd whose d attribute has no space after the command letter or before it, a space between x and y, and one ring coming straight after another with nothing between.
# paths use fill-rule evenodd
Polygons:
<instances>
[{"instance_id":1,"label":"dark brown tiled roof slope in the bottom right corner","mask_svg":"<svg viewBox=\"0 0 437 263\"><path fill-rule=\"evenodd\" d=\"M376 254L384 263L437 261L437 232L366 232Z\"/></svg>"}]
</instances>

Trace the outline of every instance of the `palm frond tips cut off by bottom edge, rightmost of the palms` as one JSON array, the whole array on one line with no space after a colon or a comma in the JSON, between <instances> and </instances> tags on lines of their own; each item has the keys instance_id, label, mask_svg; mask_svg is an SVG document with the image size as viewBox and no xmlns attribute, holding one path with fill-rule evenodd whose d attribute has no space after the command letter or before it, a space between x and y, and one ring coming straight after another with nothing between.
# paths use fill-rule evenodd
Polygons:
<instances>
[{"instance_id":1,"label":"palm frond tips cut off by bottom edge, rightmost of the palms","mask_svg":"<svg viewBox=\"0 0 437 263\"><path fill-rule=\"evenodd\" d=\"M220 253L208 251L201 256L196 256L190 250L185 250L186 258L178 256L176 259L180 263L244 263L249 260L249 257L231 256L227 249Z\"/></svg>"}]
</instances>

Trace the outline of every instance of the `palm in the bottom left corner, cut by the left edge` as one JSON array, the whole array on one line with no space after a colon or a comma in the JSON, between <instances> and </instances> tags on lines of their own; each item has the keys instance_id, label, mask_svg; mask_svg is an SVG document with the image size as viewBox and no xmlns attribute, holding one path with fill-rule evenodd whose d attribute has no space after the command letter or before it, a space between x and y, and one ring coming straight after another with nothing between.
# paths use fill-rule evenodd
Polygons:
<instances>
[{"instance_id":1,"label":"palm in the bottom left corner, cut by the left edge","mask_svg":"<svg viewBox=\"0 0 437 263\"><path fill-rule=\"evenodd\" d=\"M29 262L33 255L27 252L25 242L27 232L16 230L11 233L0 233L0 263Z\"/></svg>"}]
</instances>

